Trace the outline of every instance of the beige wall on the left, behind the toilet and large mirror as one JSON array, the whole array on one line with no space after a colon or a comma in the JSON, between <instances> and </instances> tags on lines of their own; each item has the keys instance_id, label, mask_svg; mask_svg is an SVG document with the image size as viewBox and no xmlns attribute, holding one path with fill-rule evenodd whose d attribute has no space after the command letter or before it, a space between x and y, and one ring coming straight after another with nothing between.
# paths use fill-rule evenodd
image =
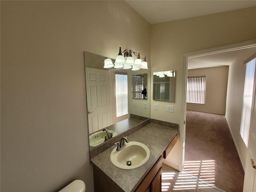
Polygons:
<instances>
[{"instance_id":1,"label":"beige wall on the left, behind the toilet and large mirror","mask_svg":"<svg viewBox=\"0 0 256 192\"><path fill-rule=\"evenodd\" d=\"M93 192L83 52L146 55L150 24L123 1L1 1L1 191Z\"/></svg>"}]
</instances>

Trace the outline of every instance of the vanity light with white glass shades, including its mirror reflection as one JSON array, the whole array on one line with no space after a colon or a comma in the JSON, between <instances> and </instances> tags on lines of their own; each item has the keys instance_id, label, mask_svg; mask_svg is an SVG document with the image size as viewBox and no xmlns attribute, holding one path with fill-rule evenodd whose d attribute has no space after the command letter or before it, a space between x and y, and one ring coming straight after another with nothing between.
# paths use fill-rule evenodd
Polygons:
<instances>
[{"instance_id":1,"label":"vanity light with white glass shades, including its mirror reflection","mask_svg":"<svg viewBox=\"0 0 256 192\"><path fill-rule=\"evenodd\" d=\"M122 55L124 53L124 56ZM137 56L136 60L134 61L134 58L132 57L132 53ZM148 69L148 63L146 62L146 56L144 60L142 57L140 57L140 53L136 53L132 50L121 50L121 47L119 48L118 56L116 56L116 61L113 64L112 60L109 58L106 58L104 61L104 68L111 68L114 66L114 68L123 68L123 69L130 69L132 68L133 71L139 70L139 69Z\"/></svg>"}]
</instances>

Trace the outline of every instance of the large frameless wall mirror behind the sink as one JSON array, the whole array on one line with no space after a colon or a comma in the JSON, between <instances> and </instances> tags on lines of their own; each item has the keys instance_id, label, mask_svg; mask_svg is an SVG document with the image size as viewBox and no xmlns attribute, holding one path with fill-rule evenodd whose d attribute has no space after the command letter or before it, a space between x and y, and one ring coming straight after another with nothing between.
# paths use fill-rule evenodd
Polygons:
<instances>
[{"instance_id":1,"label":"large frameless wall mirror behind the sink","mask_svg":"<svg viewBox=\"0 0 256 192\"><path fill-rule=\"evenodd\" d=\"M105 59L84 52L90 150L150 118L150 99L146 99L150 69L105 69ZM144 79L140 92L142 100L136 100L134 106L132 77L138 74ZM146 98L143 90L147 92Z\"/></svg>"}]
</instances>

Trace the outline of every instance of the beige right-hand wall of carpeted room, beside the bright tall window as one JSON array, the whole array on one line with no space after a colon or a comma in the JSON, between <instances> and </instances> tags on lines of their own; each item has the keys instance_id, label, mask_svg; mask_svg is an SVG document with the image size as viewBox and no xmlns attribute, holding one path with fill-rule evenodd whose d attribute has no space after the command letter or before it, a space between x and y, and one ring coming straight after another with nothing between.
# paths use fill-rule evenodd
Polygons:
<instances>
[{"instance_id":1,"label":"beige right-hand wall of carpeted room, beside the bright tall window","mask_svg":"<svg viewBox=\"0 0 256 192\"><path fill-rule=\"evenodd\" d=\"M256 48L244 50L242 54L236 56L232 65L229 67L228 74L226 120L228 122L228 126L230 128L230 132L236 145L243 168L245 168L247 150L246 145L240 136L244 78L246 70L244 60L249 58L254 52L256 52Z\"/></svg>"}]
</instances>

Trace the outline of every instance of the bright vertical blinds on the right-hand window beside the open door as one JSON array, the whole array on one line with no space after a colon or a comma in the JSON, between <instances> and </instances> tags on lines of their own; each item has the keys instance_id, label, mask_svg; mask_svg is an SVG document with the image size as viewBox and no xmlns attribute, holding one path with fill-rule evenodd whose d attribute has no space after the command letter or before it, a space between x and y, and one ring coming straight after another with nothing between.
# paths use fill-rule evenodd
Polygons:
<instances>
[{"instance_id":1,"label":"bright vertical blinds on the right-hand window beside the open door","mask_svg":"<svg viewBox=\"0 0 256 192\"><path fill-rule=\"evenodd\" d=\"M252 94L254 84L254 72L255 72L255 58L246 64L245 80L244 80L244 95L243 95L243 108L242 118L240 126L240 135L248 146L248 137L250 129L250 118L252 110Z\"/></svg>"}]
</instances>

